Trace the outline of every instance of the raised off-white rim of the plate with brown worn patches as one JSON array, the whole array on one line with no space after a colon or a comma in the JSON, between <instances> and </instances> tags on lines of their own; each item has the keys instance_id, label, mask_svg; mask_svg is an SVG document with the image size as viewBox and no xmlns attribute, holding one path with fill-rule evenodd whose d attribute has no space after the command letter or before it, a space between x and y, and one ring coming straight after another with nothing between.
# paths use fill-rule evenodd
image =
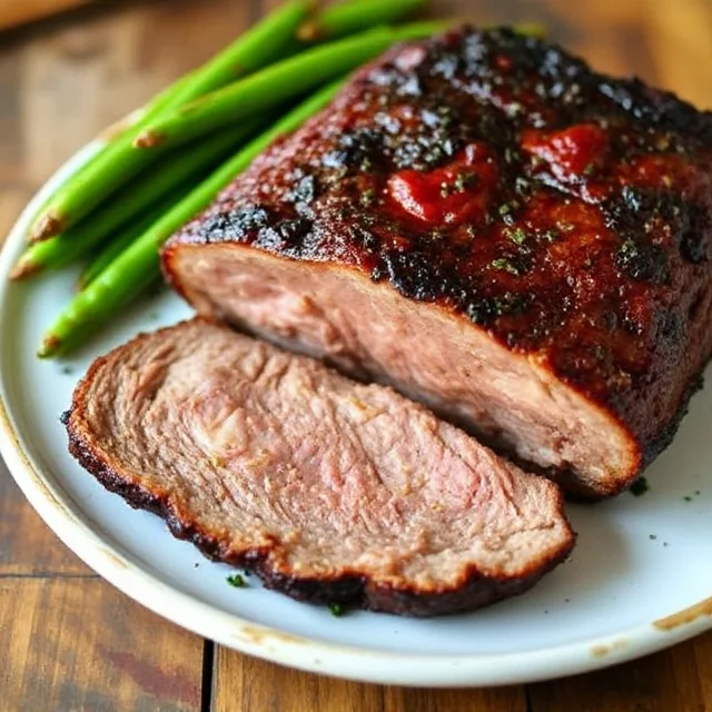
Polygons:
<instances>
[{"instance_id":1,"label":"raised off-white rim of the plate with brown worn patches","mask_svg":"<svg viewBox=\"0 0 712 712\"><path fill-rule=\"evenodd\" d=\"M93 140L70 157L40 188L0 248L0 316L12 284L10 268L39 206L100 147ZM38 463L22 436L7 393L0 349L0 455L23 495L50 530L90 568L123 594L202 637L248 655L306 672L359 682L407 686L523 684L591 672L669 647L712 629L712 596L663 619L596 639L496 654L408 654L295 635L228 613L179 591L125 555L62 494L61 477Z\"/></svg>"}]
</instances>

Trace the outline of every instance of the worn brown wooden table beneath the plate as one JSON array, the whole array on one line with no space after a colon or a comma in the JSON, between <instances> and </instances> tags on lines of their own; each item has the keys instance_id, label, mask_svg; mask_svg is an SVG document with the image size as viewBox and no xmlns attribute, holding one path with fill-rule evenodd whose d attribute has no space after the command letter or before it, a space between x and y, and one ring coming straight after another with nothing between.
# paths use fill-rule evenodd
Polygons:
<instances>
[{"instance_id":1,"label":"worn brown wooden table beneath the plate","mask_svg":"<svg viewBox=\"0 0 712 712\"><path fill-rule=\"evenodd\" d=\"M208 57L270 4L98 2L0 36L0 235L40 184L101 127ZM712 107L708 0L434 4L482 22L540 20L597 67L640 73ZM2 463L0 641L0 712L712 711L712 634L604 672L472 691L355 684L246 657L148 613L96 576L40 522Z\"/></svg>"}]
</instances>

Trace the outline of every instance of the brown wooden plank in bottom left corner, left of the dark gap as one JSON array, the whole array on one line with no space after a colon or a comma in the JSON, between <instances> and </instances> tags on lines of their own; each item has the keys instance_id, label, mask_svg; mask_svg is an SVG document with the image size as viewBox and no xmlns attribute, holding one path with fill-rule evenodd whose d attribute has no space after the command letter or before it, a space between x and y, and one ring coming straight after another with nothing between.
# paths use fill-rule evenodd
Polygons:
<instances>
[{"instance_id":1,"label":"brown wooden plank in bottom left corner, left of the dark gap","mask_svg":"<svg viewBox=\"0 0 712 712\"><path fill-rule=\"evenodd\" d=\"M0 710L200 706L202 642L97 578L0 578Z\"/></svg>"}]
</instances>

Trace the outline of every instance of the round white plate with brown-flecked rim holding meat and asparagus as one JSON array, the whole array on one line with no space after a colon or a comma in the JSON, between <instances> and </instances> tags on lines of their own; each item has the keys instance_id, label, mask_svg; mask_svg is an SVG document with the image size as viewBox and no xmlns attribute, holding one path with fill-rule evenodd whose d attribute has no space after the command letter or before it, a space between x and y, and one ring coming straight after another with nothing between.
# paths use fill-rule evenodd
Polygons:
<instances>
[{"instance_id":1,"label":"round white plate with brown-flecked rim holding meat and asparagus","mask_svg":"<svg viewBox=\"0 0 712 712\"><path fill-rule=\"evenodd\" d=\"M497 685L555 678L649 653L712 627L712 387L692 400L646 473L651 491L571 506L572 561L534 591L439 620L328 611L226 583L230 568L127 507L67 454L59 422L91 359L140 329L189 314L162 294L123 315L68 362L34 358L75 275L8 284L33 211L91 151L65 166L20 218L0 256L0 453L42 518L89 566L156 613L246 653L382 683ZM708 372L709 373L709 372ZM199 564L199 565L198 565Z\"/></svg>"}]
</instances>

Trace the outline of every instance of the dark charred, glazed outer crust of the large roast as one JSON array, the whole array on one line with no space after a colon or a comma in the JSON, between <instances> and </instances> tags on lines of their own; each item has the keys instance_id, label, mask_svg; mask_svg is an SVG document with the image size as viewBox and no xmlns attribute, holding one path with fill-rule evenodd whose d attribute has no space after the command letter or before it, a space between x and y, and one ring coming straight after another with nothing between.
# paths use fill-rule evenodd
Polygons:
<instances>
[{"instance_id":1,"label":"dark charred, glazed outer crust of the large roast","mask_svg":"<svg viewBox=\"0 0 712 712\"><path fill-rule=\"evenodd\" d=\"M346 267L536 359L629 434L610 494L670 443L712 353L712 115L506 29L452 31L359 71L169 243L174 286L230 317L180 260L198 246ZM575 487L585 464L556 468Z\"/></svg>"}]
</instances>

